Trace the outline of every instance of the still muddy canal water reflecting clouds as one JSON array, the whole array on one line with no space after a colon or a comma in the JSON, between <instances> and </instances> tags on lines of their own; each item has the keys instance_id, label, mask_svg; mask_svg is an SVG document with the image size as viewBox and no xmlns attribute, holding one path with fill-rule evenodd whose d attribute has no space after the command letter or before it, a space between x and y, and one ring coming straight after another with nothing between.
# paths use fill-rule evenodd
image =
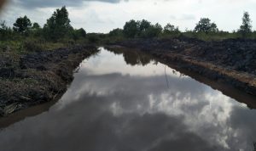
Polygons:
<instances>
[{"instance_id":1,"label":"still muddy canal water reflecting clouds","mask_svg":"<svg viewBox=\"0 0 256 151\"><path fill-rule=\"evenodd\" d=\"M3 128L0 150L253 150L254 109L145 54L101 49L58 103Z\"/></svg>"}]
</instances>

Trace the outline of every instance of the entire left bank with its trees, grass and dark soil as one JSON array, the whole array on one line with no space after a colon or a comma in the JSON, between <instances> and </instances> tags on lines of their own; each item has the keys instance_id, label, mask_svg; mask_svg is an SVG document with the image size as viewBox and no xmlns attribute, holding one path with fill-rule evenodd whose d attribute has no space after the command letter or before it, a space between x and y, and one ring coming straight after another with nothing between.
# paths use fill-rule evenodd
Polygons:
<instances>
[{"instance_id":1,"label":"entire left bank with its trees, grass and dark soil","mask_svg":"<svg viewBox=\"0 0 256 151\"><path fill-rule=\"evenodd\" d=\"M13 29L0 25L0 116L59 99L73 71L98 52L83 29L69 24L67 9L57 9L44 28L26 17ZM86 44L87 43L87 44Z\"/></svg>"}]
</instances>

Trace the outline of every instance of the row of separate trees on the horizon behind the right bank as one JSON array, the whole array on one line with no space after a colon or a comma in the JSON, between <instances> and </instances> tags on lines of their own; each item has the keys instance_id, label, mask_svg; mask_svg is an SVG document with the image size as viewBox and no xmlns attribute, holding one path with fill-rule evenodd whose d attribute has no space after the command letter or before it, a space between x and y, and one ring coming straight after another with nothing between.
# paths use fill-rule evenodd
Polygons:
<instances>
[{"instance_id":1,"label":"row of separate trees on the horizon behind the right bank","mask_svg":"<svg viewBox=\"0 0 256 151\"><path fill-rule=\"evenodd\" d=\"M195 25L195 29L193 31L194 33L205 33L205 34L217 34L220 32L225 31L219 31L218 26L212 22L208 18L201 18L201 20ZM252 20L250 19L250 16L248 12L245 12L242 17L242 24L240 26L240 29L237 31L234 31L238 34L240 34L242 37L247 37L249 34L251 34L252 31ZM130 20L127 21L124 25L123 29L114 29L113 31L109 32L110 36L120 36L123 34L123 36L128 38L135 38L135 37L155 37L161 35L177 35L179 33L182 33L182 31L179 31L178 27L175 25L171 25L168 23L164 28L160 24L151 24L148 20Z\"/></svg>"}]
</instances>

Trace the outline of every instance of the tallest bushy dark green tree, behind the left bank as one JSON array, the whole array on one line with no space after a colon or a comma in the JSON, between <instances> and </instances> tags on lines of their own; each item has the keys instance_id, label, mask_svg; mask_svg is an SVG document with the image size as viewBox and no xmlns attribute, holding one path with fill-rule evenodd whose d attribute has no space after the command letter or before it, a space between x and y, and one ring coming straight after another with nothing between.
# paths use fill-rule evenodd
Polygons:
<instances>
[{"instance_id":1,"label":"tallest bushy dark green tree, behind the left bank","mask_svg":"<svg viewBox=\"0 0 256 151\"><path fill-rule=\"evenodd\" d=\"M73 30L68 18L67 8L64 6L61 9L56 9L54 14L47 20L44 25L44 36L51 40L59 40L61 37Z\"/></svg>"}]
</instances>

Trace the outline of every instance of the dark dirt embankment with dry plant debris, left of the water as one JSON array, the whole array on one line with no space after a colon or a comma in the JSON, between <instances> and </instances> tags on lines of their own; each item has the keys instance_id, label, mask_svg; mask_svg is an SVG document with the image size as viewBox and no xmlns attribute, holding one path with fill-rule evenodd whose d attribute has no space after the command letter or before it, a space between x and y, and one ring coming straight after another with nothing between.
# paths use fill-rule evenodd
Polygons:
<instances>
[{"instance_id":1,"label":"dark dirt embankment with dry plant debris, left of the water","mask_svg":"<svg viewBox=\"0 0 256 151\"><path fill-rule=\"evenodd\" d=\"M21 56L0 56L0 115L58 99L73 81L73 70L97 53L94 46L76 46Z\"/></svg>"}]
</instances>

